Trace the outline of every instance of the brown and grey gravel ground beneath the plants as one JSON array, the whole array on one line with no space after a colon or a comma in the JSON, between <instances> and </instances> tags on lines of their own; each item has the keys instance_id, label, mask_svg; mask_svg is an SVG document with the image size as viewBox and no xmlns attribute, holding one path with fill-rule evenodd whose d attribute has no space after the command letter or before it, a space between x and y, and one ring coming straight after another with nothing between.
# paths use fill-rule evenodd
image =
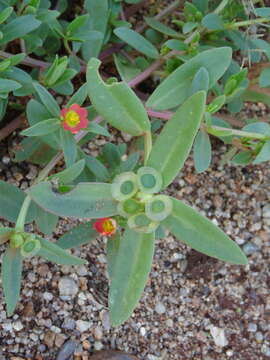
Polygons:
<instances>
[{"instance_id":1,"label":"brown and grey gravel ground beneath the plants","mask_svg":"<svg viewBox=\"0 0 270 360\"><path fill-rule=\"evenodd\" d=\"M269 164L220 168L225 151L220 146L210 171L196 175L189 159L169 192L219 224L243 247L249 265L224 264L167 234L157 241L139 306L129 321L112 329L106 239L74 251L88 260L87 266L33 258L25 262L15 315L7 318L0 304L0 360L54 360L63 346L74 345L68 340L77 342L74 360L109 348L145 360L270 359ZM0 179L25 188L37 168L2 155ZM62 220L51 239L72 226Z\"/></svg>"}]
</instances>

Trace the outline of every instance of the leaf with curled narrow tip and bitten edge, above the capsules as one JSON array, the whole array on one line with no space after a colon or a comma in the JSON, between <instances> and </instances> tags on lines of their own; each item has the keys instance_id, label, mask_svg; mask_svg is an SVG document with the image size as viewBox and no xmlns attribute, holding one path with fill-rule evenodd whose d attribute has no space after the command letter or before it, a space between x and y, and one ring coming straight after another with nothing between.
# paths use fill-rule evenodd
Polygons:
<instances>
[{"instance_id":1,"label":"leaf with curled narrow tip and bitten edge, above the capsules","mask_svg":"<svg viewBox=\"0 0 270 360\"><path fill-rule=\"evenodd\" d=\"M144 106L124 82L107 85L100 78L100 61L91 59L87 69L90 99L97 112L112 126L139 136L149 131L150 122Z\"/></svg>"}]
</instances>

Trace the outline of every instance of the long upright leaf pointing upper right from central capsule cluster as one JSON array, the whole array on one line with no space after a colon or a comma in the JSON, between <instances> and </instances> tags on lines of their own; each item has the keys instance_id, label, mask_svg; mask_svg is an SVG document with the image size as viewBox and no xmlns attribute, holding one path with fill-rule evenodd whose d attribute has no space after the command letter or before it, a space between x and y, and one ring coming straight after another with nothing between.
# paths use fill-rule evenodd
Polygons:
<instances>
[{"instance_id":1,"label":"long upright leaf pointing upper right from central capsule cluster","mask_svg":"<svg viewBox=\"0 0 270 360\"><path fill-rule=\"evenodd\" d=\"M192 95L166 123L158 136L147 166L160 172L165 189L177 176L191 150L205 108L205 92Z\"/></svg>"}]
</instances>

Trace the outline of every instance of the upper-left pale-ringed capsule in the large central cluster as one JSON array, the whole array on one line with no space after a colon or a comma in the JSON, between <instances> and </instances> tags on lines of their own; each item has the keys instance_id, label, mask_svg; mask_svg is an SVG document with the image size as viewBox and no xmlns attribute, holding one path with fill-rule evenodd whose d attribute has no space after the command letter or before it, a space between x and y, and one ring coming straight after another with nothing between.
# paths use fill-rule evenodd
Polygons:
<instances>
[{"instance_id":1,"label":"upper-left pale-ringed capsule in the large central cluster","mask_svg":"<svg viewBox=\"0 0 270 360\"><path fill-rule=\"evenodd\" d=\"M131 171L124 172L114 178L112 183L112 196L123 201L131 198L138 191L137 176Z\"/></svg>"}]
</instances>

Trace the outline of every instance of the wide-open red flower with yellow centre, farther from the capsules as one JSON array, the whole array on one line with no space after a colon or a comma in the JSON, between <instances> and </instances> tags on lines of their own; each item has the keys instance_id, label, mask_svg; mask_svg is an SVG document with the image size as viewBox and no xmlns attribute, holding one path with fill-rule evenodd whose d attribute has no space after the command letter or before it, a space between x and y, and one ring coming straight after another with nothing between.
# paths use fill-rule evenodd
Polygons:
<instances>
[{"instance_id":1,"label":"wide-open red flower with yellow centre, farther from the capsules","mask_svg":"<svg viewBox=\"0 0 270 360\"><path fill-rule=\"evenodd\" d=\"M65 130L76 134L81 129L88 126L89 120L87 119L87 110L80 107L78 104L71 105L68 109L61 110L62 126Z\"/></svg>"}]
</instances>

